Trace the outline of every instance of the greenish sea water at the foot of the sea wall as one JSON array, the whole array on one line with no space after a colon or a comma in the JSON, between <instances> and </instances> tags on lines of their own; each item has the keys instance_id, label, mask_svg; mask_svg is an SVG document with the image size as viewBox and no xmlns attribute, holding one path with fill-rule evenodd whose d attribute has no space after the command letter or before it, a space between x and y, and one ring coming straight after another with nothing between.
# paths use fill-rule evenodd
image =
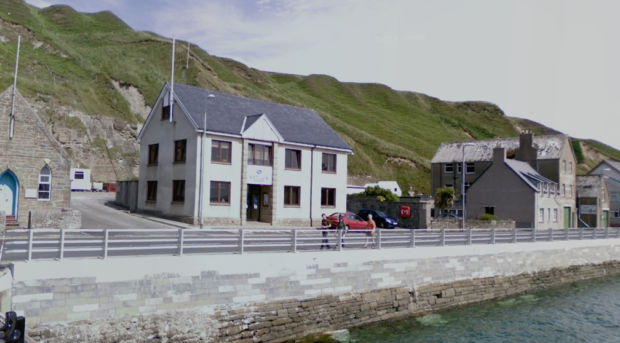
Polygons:
<instances>
[{"instance_id":1,"label":"greenish sea water at the foot of the sea wall","mask_svg":"<svg viewBox=\"0 0 620 343\"><path fill-rule=\"evenodd\" d=\"M352 329L342 342L620 342L620 277Z\"/></svg>"}]
</instances>

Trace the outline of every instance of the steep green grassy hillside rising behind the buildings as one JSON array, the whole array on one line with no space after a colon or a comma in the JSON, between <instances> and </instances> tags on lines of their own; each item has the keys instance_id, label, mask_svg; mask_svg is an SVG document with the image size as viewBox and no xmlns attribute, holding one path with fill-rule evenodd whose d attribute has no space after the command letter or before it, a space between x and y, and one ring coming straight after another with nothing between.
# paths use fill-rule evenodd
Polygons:
<instances>
[{"instance_id":1,"label":"steep green grassy hillside rising behind the buildings","mask_svg":"<svg viewBox=\"0 0 620 343\"><path fill-rule=\"evenodd\" d=\"M18 88L40 101L138 123L142 117L132 113L112 80L137 87L152 104L169 78L171 40L136 32L110 12L37 9L22 0L0 0L0 8L0 38L6 41L0 43L0 89L12 84L18 34ZM518 127L540 127L508 118L490 103L446 102L325 75L262 72L194 46L185 69L187 44L178 43L177 82L316 110L353 147L349 175L358 184L397 180L403 189L427 193L429 161L441 142L516 136ZM582 141L607 156L620 154L595 143Z\"/></svg>"}]
</instances>

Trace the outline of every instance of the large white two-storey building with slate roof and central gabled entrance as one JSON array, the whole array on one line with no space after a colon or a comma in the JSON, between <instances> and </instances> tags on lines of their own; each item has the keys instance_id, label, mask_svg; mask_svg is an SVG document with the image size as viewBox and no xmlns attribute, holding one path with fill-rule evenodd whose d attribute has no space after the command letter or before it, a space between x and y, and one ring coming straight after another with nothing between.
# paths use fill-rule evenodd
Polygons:
<instances>
[{"instance_id":1,"label":"large white two-storey building with slate roof and central gabled entrance","mask_svg":"<svg viewBox=\"0 0 620 343\"><path fill-rule=\"evenodd\" d=\"M178 84L171 108L170 88L138 136L139 211L310 226L346 210L352 150L315 111Z\"/></svg>"}]
</instances>

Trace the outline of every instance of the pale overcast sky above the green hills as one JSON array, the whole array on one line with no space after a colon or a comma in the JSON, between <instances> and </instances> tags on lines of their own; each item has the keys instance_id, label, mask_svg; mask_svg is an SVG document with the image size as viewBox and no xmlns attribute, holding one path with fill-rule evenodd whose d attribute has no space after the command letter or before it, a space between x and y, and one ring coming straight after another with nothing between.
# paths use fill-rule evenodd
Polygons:
<instances>
[{"instance_id":1,"label":"pale overcast sky above the green hills","mask_svg":"<svg viewBox=\"0 0 620 343\"><path fill-rule=\"evenodd\" d=\"M109 10L136 30L264 71L497 104L620 149L620 1L26 0Z\"/></svg>"}]
</instances>

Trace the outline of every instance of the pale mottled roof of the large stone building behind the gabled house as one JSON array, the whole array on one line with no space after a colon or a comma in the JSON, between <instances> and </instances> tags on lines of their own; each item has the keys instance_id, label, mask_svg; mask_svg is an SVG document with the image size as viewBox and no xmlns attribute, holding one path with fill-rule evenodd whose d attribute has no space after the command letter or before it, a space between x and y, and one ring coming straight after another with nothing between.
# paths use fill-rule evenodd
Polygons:
<instances>
[{"instance_id":1,"label":"pale mottled roof of the large stone building behind the gabled house","mask_svg":"<svg viewBox=\"0 0 620 343\"><path fill-rule=\"evenodd\" d=\"M538 148L538 159L552 160L560 158L566 136L563 134L534 136L532 140ZM494 148L501 146L506 151L516 150L519 147L519 137L441 143L431 163L463 162L463 144L473 144L473 146L465 148L465 162L490 162L493 161Z\"/></svg>"}]
</instances>

